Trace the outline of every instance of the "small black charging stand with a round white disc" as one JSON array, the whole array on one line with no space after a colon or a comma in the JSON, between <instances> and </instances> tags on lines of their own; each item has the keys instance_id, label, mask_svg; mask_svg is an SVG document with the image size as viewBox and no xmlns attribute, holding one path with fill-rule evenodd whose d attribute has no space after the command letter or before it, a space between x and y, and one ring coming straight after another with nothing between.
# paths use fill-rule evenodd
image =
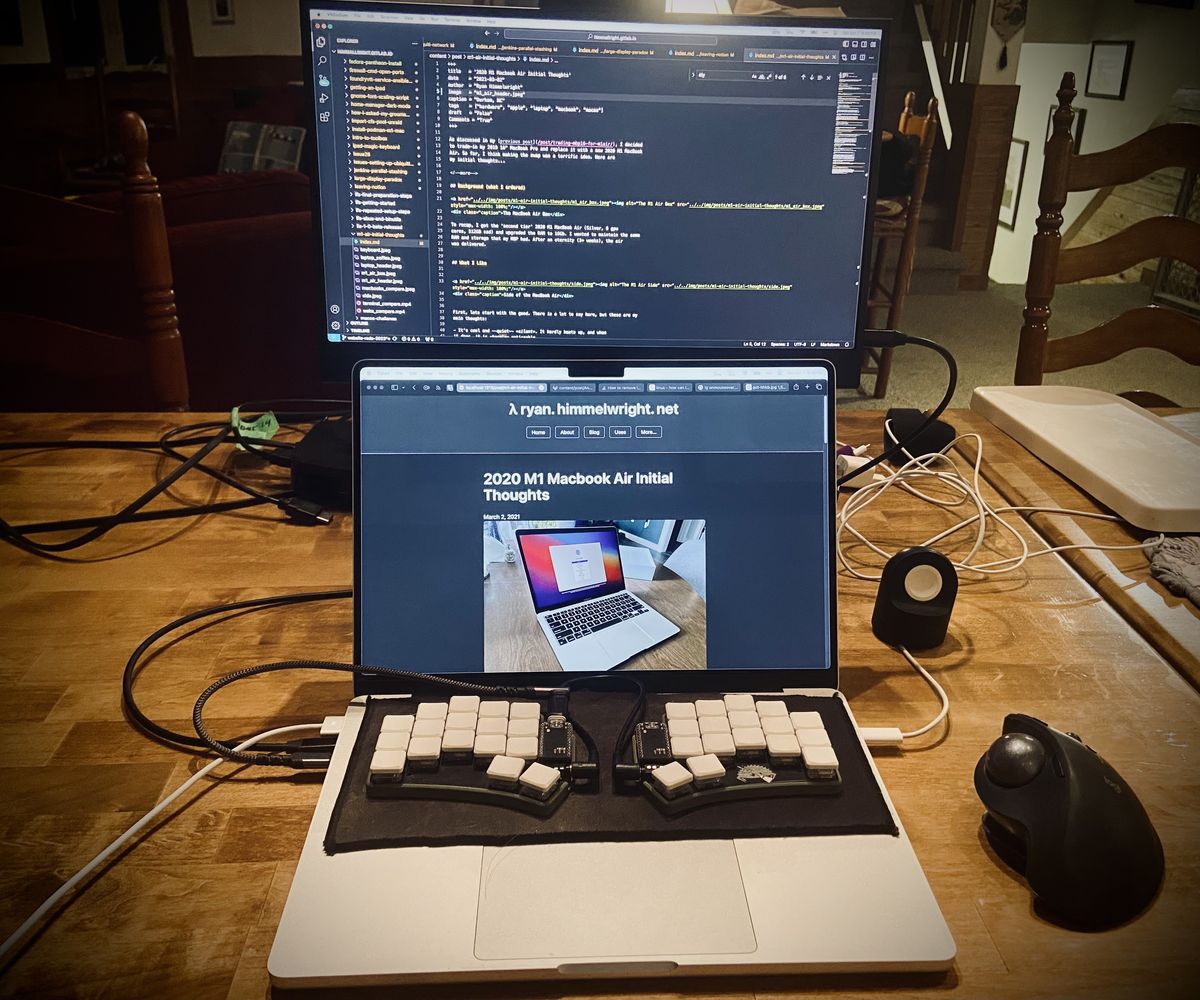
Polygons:
<instances>
[{"instance_id":1,"label":"small black charging stand with a round white disc","mask_svg":"<svg viewBox=\"0 0 1200 1000\"><path fill-rule=\"evenodd\" d=\"M883 567L871 631L888 646L941 646L958 593L958 574L941 552L919 545L896 552Z\"/></svg>"}]
</instances>

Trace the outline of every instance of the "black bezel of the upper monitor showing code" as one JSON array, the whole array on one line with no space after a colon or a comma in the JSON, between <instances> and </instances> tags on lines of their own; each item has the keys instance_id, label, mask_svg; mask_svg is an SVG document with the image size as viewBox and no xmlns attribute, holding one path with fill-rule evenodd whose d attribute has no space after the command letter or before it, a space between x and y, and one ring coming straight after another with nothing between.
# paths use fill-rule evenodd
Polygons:
<instances>
[{"instance_id":1,"label":"black bezel of the upper monitor showing code","mask_svg":"<svg viewBox=\"0 0 1200 1000\"><path fill-rule=\"evenodd\" d=\"M619 2L612 4L587 4L571 10L571 5L544 4L541 7L486 7L473 8L445 4L420 4L400 0L300 0L300 44L301 62L304 71L304 90L306 106L306 125L312 142L317 142L317 106L314 101L313 83L313 49L312 31L308 25L312 20L312 10L343 10L360 11L370 7L378 7L382 11L395 11L397 13L444 13L446 17L476 16L499 18L540 18L545 20L612 20L625 24L712 24L714 26L728 26L731 23L744 25L761 25L763 28L829 28L829 29L868 29L878 30L880 35L880 64L875 85L876 114L871 127L871 169L868 173L866 204L874 205L878 186L878 160L880 144L882 142L878 126L878 100L886 85L887 40L890 22L880 18L815 18L815 17L737 17L728 18L716 14L667 14L659 12L647 12L644 16L638 12L637 18L631 18L629 11ZM624 16L623 16L624 14ZM868 210L863 226L863 252L859 261L859 274L862 280L858 283L858 309L856 312L853 343L850 347L814 351L810 348L760 348L760 347L630 347L613 346L611 348L598 345L587 347L571 347L569 345L412 345L397 343L386 345L380 342L348 343L346 341L330 341L325 331L326 310L329 304L325 300L325 261L324 244L322 239L322 211L320 211L320 157L312 157L313 175L310 178L308 191L312 204L312 250L316 262L316 275L318 279L318 315L313 317L313 339L319 339L319 363L320 375L325 383L347 384L353 378L353 371L358 363L362 360L408 360L427 361L434 359L455 360L475 364L481 361L487 353L503 351L506 357L516 361L548 361L548 360L587 360L600 359L606 361L654 361L670 355L674 360L713 361L720 358L733 358L740 364L748 364L752 359L763 357L774 358L779 363L796 360L827 360L832 363L838 373L839 388L853 388L858 385L858 371L863 357L862 334L868 328L868 297L870 293L870 247L874 241L875 212Z\"/></svg>"}]
</instances>

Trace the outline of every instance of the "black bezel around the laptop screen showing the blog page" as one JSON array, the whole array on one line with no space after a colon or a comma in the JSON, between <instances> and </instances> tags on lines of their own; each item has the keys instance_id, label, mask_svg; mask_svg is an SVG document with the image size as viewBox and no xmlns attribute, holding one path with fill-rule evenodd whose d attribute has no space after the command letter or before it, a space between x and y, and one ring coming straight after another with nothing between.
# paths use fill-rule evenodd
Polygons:
<instances>
[{"instance_id":1,"label":"black bezel around the laptop screen showing the blog page","mask_svg":"<svg viewBox=\"0 0 1200 1000\"><path fill-rule=\"evenodd\" d=\"M835 521L836 521L836 509L838 509L838 487L836 487L836 475L835 475L835 461L836 461L836 432L835 432L835 395L834 391L834 371L833 365L829 361L820 358L762 358L749 359L749 358L718 358L718 359L706 359L706 360L692 360L692 361L679 361L676 358L656 358L648 359L646 361L630 363L625 369L643 369L643 367L661 367L661 369L678 369L680 377L685 376L688 369L702 369L710 366L727 367L731 378L738 378L742 376L734 375L734 372L742 372L746 369L761 369L761 367L821 367L826 371L827 379L829 383L829 391L826 394L826 426L828 427L828 441L826 444L826 477L828 481L828 495L826 497L828 504L829 516L826 519L826 545L828 551L827 558L827 571L828 571L828 594L829 594L829 663L824 667L745 667L737 670L622 670L619 673L636 677L643 684L646 684L648 690L654 691L756 691L756 690L780 690L782 688L797 688L805 690L836 690L838 688L838 561L835 557ZM370 367L391 367L391 369L404 369L412 371L432 370L432 369L446 369L446 367L462 367L464 372L475 369L524 369L530 367L545 367L550 369L575 369L575 365L569 366L568 363L559 358L556 360L542 360L538 365L530 365L529 361L518 360L514 358L479 358L473 361L463 361L457 358L440 358L440 359L428 359L428 360L407 360L407 359L394 359L394 358L367 358L355 364L354 371L350 376L350 396L353 403L353 454L352 454L352 478L350 478L350 491L353 495L353 511L354 511L354 557L353 557L353 587L354 587L354 611L353 611L353 633L354 633L354 663L362 664L362 607L358 599L361 587L361 496L359 491L359 477L361 475L361 439L359 436L359 429L361 427L361 406L362 406L362 394L359 391L359 383L361 381L360 372ZM583 366L586 367L586 366ZM602 366L606 370L610 369L610 363ZM610 370L611 371L611 370ZM562 376L560 371L554 371L554 378ZM408 376L397 375L400 381L408 381ZM421 376L414 375L413 381L419 379ZM434 376L427 376L433 378ZM524 375L522 376L524 377ZM547 377L551 377L547 373ZM587 377L576 375L572 370L570 372L571 378ZM626 377L624 371L619 376L610 373L607 377ZM724 372L722 372L724 377ZM746 376L751 377L751 376ZM757 375L752 377L760 377ZM470 381L469 375L464 375L464 381ZM370 665L367 665L370 666ZM420 671L419 664L402 664L402 669ZM611 672L611 671L608 671ZM595 671L596 676L604 675L606 671ZM463 671L449 675L428 675L428 676L446 676L458 681L468 681L478 684L487 685L511 685L517 684L522 687L558 687L564 681L572 677L588 677L593 676L588 671L529 671L529 672L512 672L512 671ZM378 673L364 673L356 672L354 675L354 694L355 695L371 695L371 694L398 694L406 690L410 690L412 685L404 682L397 681L395 678L384 677Z\"/></svg>"}]
</instances>

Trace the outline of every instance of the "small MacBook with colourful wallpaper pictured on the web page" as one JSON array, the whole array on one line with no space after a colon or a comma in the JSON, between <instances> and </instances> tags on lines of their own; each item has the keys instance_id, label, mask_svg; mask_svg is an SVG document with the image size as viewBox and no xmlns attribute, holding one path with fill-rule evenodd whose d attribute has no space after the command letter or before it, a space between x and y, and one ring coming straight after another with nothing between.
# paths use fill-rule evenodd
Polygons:
<instances>
[{"instance_id":1,"label":"small MacBook with colourful wallpaper pictured on the web page","mask_svg":"<svg viewBox=\"0 0 1200 1000\"><path fill-rule=\"evenodd\" d=\"M611 670L679 634L625 588L616 525L515 534L538 623L563 670Z\"/></svg>"}]
</instances>

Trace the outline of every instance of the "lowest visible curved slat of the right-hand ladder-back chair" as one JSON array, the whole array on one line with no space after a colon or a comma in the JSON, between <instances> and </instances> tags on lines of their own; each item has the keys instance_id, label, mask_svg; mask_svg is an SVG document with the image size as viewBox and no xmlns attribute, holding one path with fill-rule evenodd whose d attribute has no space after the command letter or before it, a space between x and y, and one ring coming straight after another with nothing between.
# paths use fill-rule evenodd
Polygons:
<instances>
[{"instance_id":1,"label":"lowest visible curved slat of the right-hand ladder-back chair","mask_svg":"<svg viewBox=\"0 0 1200 1000\"><path fill-rule=\"evenodd\" d=\"M1200 322L1163 306L1141 306L1108 323L1046 343L1042 371L1067 371L1111 361L1138 347L1157 347L1200 365Z\"/></svg>"}]
</instances>

